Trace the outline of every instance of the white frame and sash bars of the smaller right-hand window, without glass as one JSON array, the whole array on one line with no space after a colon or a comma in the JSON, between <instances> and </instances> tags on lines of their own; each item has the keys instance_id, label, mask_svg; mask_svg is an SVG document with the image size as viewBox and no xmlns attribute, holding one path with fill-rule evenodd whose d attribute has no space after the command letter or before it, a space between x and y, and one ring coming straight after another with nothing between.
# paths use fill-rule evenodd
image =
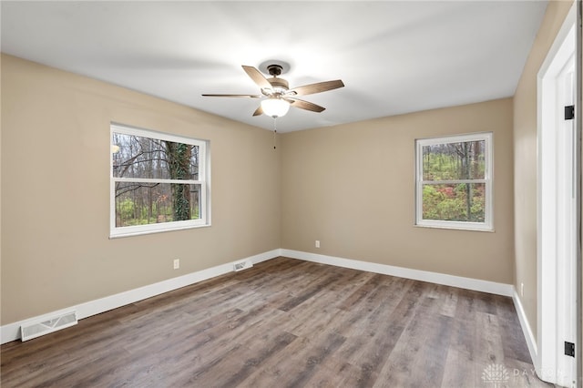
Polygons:
<instances>
[{"instance_id":1,"label":"white frame and sash bars of the smaller right-hand window, without glass","mask_svg":"<svg viewBox=\"0 0 583 388\"><path fill-rule=\"evenodd\" d=\"M463 143L469 141L485 141L485 171L484 179L455 180L423 180L423 147L435 144ZM484 183L485 204L484 222L424 220L423 219L423 187L425 184L459 184ZM415 139L415 225L426 228L442 228L455 230L494 231L494 138L492 132L481 132L466 135L455 135L441 138Z\"/></svg>"}]
</instances>

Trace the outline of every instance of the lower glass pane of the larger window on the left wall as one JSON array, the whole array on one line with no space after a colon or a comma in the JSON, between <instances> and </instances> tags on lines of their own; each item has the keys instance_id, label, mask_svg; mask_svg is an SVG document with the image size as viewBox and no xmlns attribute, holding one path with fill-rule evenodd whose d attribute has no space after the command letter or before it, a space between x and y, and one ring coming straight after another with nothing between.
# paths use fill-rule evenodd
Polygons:
<instances>
[{"instance_id":1,"label":"lower glass pane of the larger window on the left wall","mask_svg":"<svg viewBox=\"0 0 583 388\"><path fill-rule=\"evenodd\" d=\"M200 185L116 182L116 227L200 219Z\"/></svg>"}]
</instances>

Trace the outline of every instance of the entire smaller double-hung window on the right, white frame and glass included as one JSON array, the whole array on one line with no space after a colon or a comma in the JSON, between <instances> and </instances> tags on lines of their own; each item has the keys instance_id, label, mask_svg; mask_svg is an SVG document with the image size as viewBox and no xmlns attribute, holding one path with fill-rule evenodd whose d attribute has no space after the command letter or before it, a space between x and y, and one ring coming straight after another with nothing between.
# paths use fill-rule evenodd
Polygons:
<instances>
[{"instance_id":1,"label":"entire smaller double-hung window on the right, white frame and glass included","mask_svg":"<svg viewBox=\"0 0 583 388\"><path fill-rule=\"evenodd\" d=\"M493 230L492 134L416 140L416 225Z\"/></svg>"}]
</instances>

